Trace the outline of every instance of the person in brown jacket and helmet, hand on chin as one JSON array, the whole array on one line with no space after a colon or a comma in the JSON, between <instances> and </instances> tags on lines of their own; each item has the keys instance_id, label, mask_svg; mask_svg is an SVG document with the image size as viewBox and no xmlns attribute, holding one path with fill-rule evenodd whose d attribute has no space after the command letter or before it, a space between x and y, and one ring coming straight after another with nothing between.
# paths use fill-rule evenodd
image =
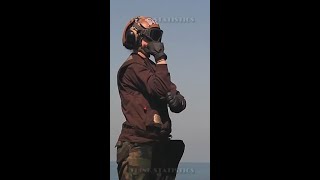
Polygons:
<instances>
[{"instance_id":1,"label":"person in brown jacket and helmet, hand on chin","mask_svg":"<svg viewBox=\"0 0 320 180\"><path fill-rule=\"evenodd\" d=\"M186 100L171 81L162 34L146 16L131 19L123 31L123 46L132 53L117 74L125 116L116 143L120 180L175 179L184 153L184 142L171 139L168 109L180 113Z\"/></svg>"}]
</instances>

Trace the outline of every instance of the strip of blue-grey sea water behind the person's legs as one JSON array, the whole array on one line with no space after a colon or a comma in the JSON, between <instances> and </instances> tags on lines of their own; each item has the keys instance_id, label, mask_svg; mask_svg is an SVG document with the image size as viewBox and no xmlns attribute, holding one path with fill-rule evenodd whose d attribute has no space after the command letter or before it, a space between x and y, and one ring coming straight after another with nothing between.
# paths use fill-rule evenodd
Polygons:
<instances>
[{"instance_id":1,"label":"strip of blue-grey sea water behind the person's legs","mask_svg":"<svg viewBox=\"0 0 320 180\"><path fill-rule=\"evenodd\" d=\"M209 180L210 163L180 162L176 180ZM110 161L110 180L119 180L117 163Z\"/></svg>"}]
</instances>

